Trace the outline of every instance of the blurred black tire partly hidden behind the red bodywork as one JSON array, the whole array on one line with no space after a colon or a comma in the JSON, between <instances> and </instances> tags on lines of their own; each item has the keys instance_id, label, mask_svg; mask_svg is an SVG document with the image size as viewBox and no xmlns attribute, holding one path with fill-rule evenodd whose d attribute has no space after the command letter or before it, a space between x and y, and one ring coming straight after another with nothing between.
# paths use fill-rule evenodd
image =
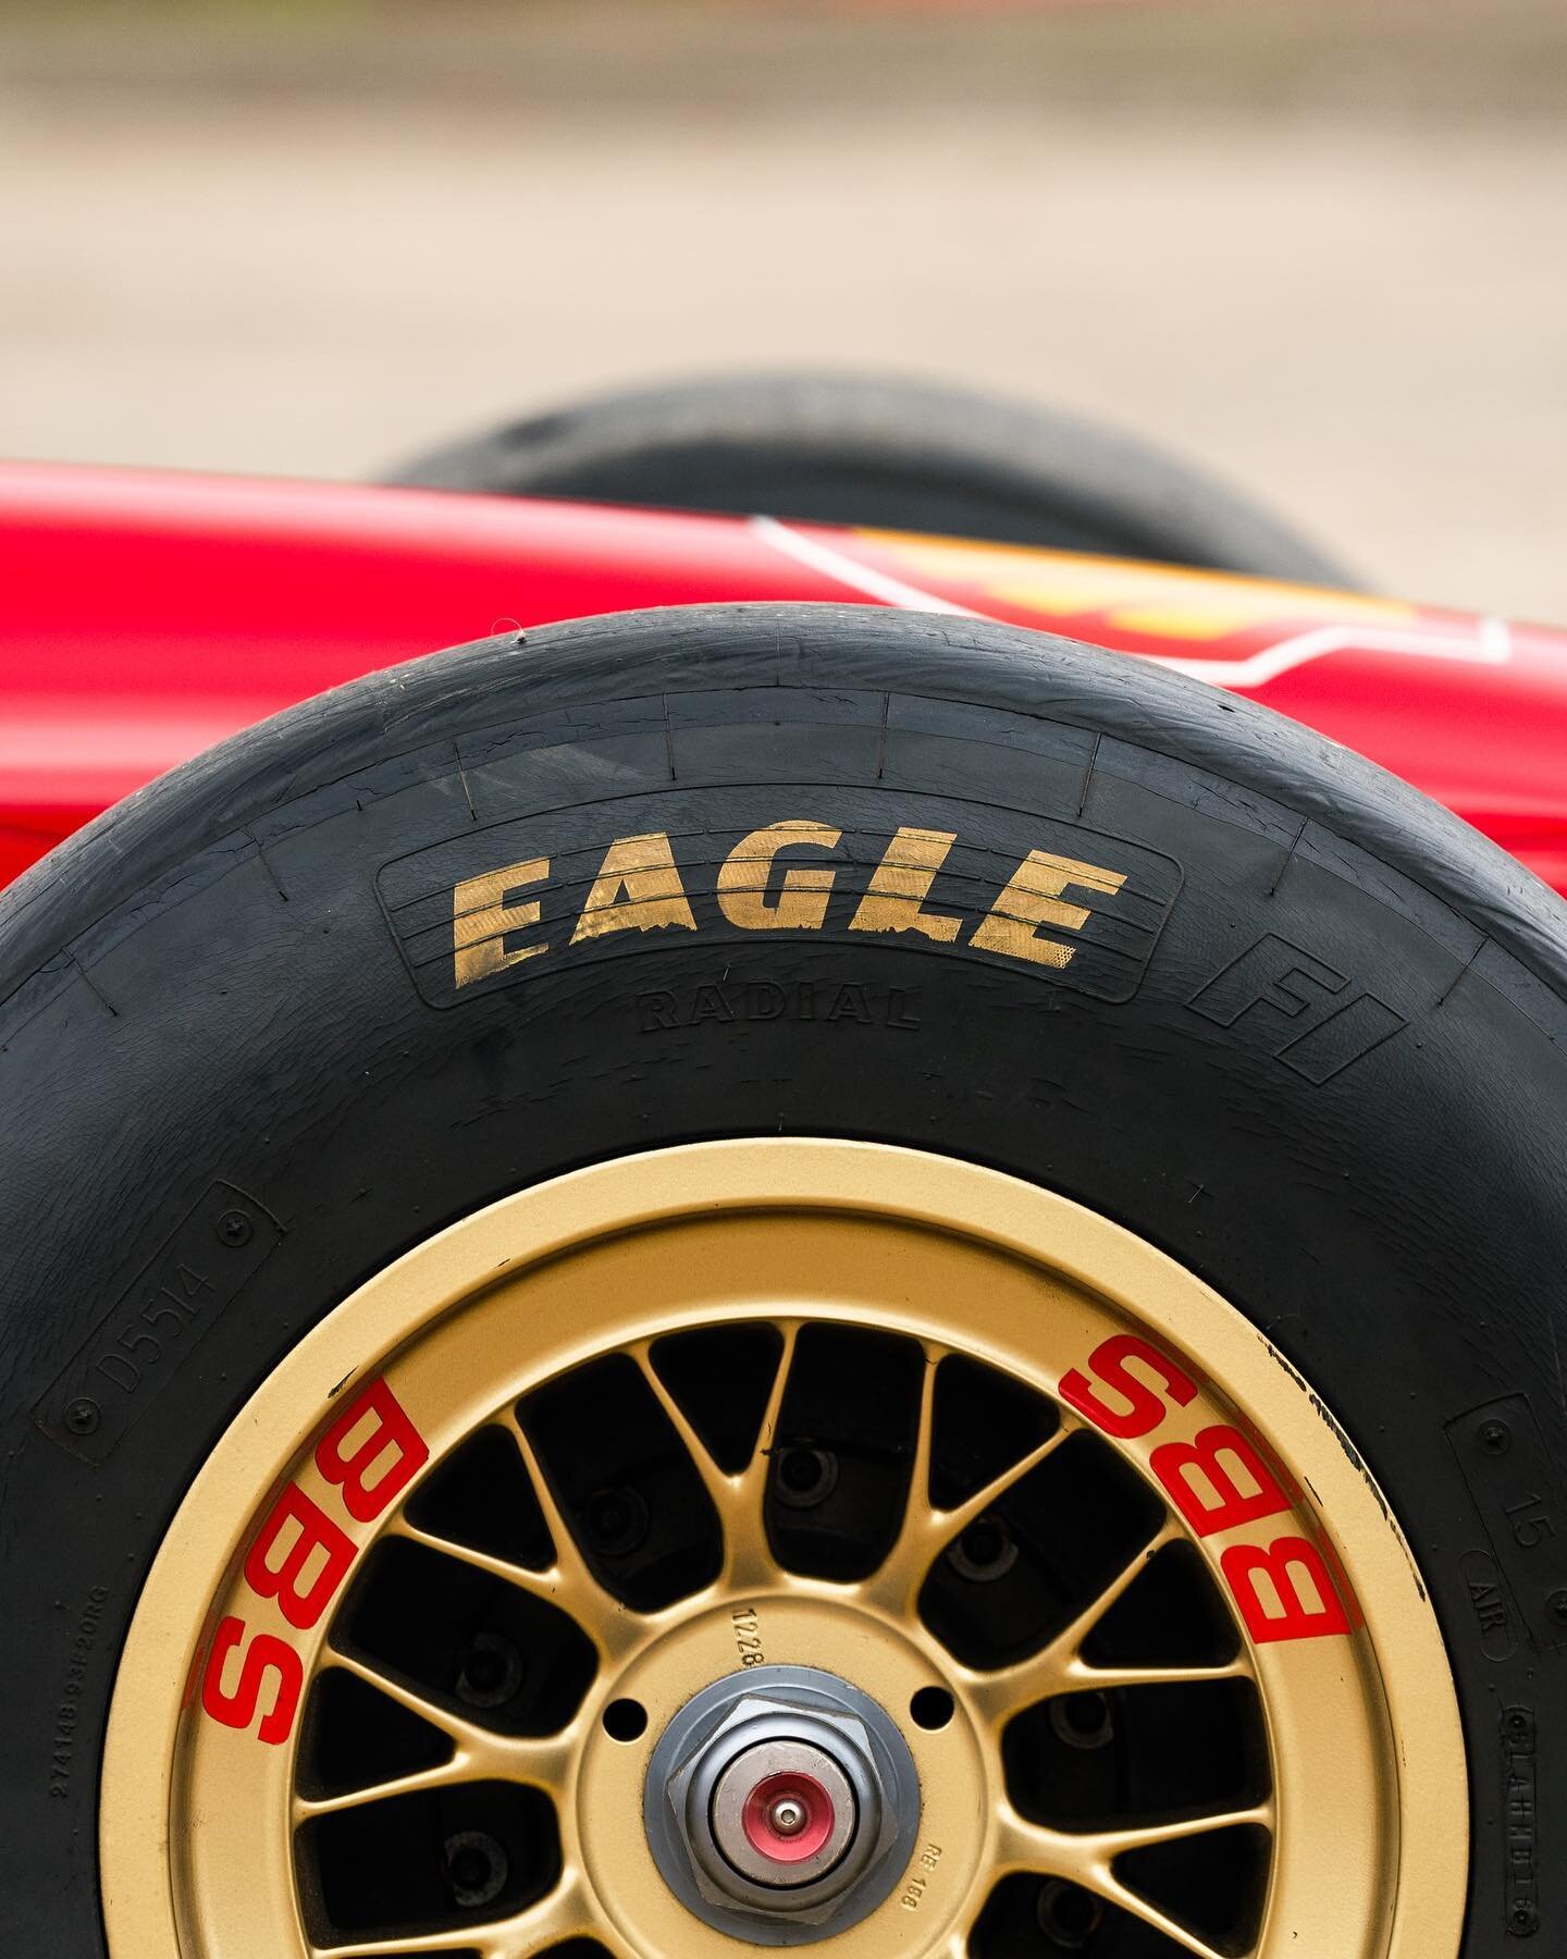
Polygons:
<instances>
[{"instance_id":1,"label":"blurred black tire partly hidden behind the red bodywork","mask_svg":"<svg viewBox=\"0 0 1567 1959\"><path fill-rule=\"evenodd\" d=\"M1030 402L856 374L603 396L435 449L437 490L764 511L1352 590L1295 529L1163 451Z\"/></svg>"}]
</instances>

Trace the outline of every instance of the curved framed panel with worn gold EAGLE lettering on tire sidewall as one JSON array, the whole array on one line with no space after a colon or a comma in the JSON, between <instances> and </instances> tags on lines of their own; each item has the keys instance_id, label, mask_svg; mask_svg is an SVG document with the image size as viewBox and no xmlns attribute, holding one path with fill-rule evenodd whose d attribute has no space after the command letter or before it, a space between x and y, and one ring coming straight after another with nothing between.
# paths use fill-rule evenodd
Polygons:
<instances>
[{"instance_id":1,"label":"curved framed panel with worn gold EAGLE lettering on tire sidewall","mask_svg":"<svg viewBox=\"0 0 1567 1959\"><path fill-rule=\"evenodd\" d=\"M821 788L548 811L378 878L437 1007L631 948L803 936L975 958L1124 1001L1179 885L1171 858L1071 823Z\"/></svg>"}]
</instances>

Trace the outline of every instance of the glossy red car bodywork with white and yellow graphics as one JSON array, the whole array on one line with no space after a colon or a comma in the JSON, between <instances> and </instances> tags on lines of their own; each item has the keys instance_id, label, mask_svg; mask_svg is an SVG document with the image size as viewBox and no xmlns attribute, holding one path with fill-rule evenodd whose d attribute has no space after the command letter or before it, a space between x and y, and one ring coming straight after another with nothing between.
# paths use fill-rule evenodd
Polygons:
<instances>
[{"instance_id":1,"label":"glossy red car bodywork with white and yellow graphics","mask_svg":"<svg viewBox=\"0 0 1567 1959\"><path fill-rule=\"evenodd\" d=\"M1500 619L766 517L27 464L0 470L0 885L210 742L499 623L858 599L1252 695L1567 891L1567 633Z\"/></svg>"}]
</instances>

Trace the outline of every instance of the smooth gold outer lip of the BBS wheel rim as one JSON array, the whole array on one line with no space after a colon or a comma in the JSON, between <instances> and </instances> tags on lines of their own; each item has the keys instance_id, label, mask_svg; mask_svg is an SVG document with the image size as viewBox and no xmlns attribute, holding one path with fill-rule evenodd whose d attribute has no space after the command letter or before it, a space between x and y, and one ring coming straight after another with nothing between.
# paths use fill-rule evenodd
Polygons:
<instances>
[{"instance_id":1,"label":"smooth gold outer lip of the BBS wheel rim","mask_svg":"<svg viewBox=\"0 0 1567 1959\"><path fill-rule=\"evenodd\" d=\"M176 1761L206 1602L319 1416L409 1340L525 1267L693 1211L874 1213L1046 1266L1220 1381L1295 1467L1350 1548L1365 1638L1397 1747L1389 1751L1399 1877L1379 1959L1455 1955L1467 1898L1463 1734L1446 1649L1414 1559L1369 1475L1269 1342L1144 1240L1069 1199L952 1158L883 1144L768 1138L689 1144L572 1171L501 1199L413 1248L327 1314L219 1440L161 1546L121 1655L100 1806L104 1922L114 1959L178 1959L170 1832ZM1169 1324L1169 1299L1179 1324ZM1163 1307L1163 1311L1160 1311ZM313 1403L300 1420L300 1387ZM1299 1446L1297 1444L1299 1436ZM278 1442L282 1438L282 1446ZM196 1601L196 1604L192 1604ZM1271 1959L1271 1937L1259 1947ZM188 1959L188 1955L186 1955Z\"/></svg>"}]
</instances>

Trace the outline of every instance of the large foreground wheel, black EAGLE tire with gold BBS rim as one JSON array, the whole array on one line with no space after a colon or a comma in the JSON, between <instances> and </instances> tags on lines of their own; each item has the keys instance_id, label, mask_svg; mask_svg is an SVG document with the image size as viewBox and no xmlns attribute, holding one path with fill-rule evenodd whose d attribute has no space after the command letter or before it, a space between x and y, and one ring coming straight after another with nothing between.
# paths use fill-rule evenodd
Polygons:
<instances>
[{"instance_id":1,"label":"large foreground wheel, black EAGLE tire with gold BBS rim","mask_svg":"<svg viewBox=\"0 0 1567 1959\"><path fill-rule=\"evenodd\" d=\"M554 625L131 795L0 1003L8 1953L1567 1937L1567 921L1367 762Z\"/></svg>"}]
</instances>

